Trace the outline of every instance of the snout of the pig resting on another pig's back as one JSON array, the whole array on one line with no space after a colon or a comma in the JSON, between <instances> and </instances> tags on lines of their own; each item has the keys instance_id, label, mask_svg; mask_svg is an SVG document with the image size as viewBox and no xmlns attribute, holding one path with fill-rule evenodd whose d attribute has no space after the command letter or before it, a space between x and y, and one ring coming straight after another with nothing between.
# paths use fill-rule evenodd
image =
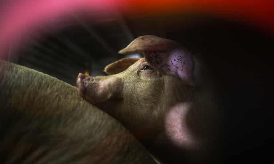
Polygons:
<instances>
[{"instance_id":1,"label":"snout of the pig resting on another pig's back","mask_svg":"<svg viewBox=\"0 0 274 164\"><path fill-rule=\"evenodd\" d=\"M112 98L121 98L117 93L119 80L108 76L86 76L78 74L77 87L79 95L92 104L104 103Z\"/></svg>"}]
</instances>

